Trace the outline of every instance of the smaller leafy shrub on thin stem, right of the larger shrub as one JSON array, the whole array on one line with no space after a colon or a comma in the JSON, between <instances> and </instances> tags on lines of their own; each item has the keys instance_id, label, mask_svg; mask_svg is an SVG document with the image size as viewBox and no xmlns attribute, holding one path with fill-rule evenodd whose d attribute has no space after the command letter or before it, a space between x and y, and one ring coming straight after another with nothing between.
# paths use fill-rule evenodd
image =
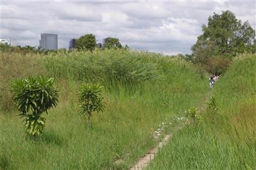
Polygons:
<instances>
[{"instance_id":1,"label":"smaller leafy shrub on thin stem, right of the larger shrub","mask_svg":"<svg viewBox=\"0 0 256 170\"><path fill-rule=\"evenodd\" d=\"M79 89L79 104L83 116L88 117L90 122L92 112L104 111L102 86L99 84L83 84Z\"/></svg>"}]
</instances>

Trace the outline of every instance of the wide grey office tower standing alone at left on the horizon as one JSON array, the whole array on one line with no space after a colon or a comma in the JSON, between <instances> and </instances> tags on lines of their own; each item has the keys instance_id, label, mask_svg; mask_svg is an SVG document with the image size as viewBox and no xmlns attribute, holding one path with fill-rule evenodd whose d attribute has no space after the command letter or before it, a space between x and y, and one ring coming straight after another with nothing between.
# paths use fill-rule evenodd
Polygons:
<instances>
[{"instance_id":1,"label":"wide grey office tower standing alone at left on the horizon","mask_svg":"<svg viewBox=\"0 0 256 170\"><path fill-rule=\"evenodd\" d=\"M39 47L42 50L58 50L58 35L44 33L41 34Z\"/></svg>"}]
</instances>

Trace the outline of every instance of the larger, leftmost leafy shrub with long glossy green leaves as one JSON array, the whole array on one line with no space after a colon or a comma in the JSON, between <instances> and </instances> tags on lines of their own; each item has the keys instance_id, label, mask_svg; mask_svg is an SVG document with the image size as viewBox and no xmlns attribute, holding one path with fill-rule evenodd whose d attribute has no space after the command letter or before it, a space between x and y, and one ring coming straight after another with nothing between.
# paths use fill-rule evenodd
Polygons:
<instances>
[{"instance_id":1,"label":"larger, leftmost leafy shrub with long glossy green leaves","mask_svg":"<svg viewBox=\"0 0 256 170\"><path fill-rule=\"evenodd\" d=\"M12 82L13 100L17 103L20 116L25 118L26 134L40 135L45 127L42 113L58 102L58 89L54 86L54 78L29 77Z\"/></svg>"}]
</instances>

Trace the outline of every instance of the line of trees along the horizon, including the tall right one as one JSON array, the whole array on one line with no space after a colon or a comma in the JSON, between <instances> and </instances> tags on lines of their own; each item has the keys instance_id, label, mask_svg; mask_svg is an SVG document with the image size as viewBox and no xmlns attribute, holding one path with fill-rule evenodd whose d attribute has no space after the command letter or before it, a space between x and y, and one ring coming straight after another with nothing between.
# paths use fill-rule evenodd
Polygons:
<instances>
[{"instance_id":1,"label":"line of trees along the horizon, including the tall right one","mask_svg":"<svg viewBox=\"0 0 256 170\"><path fill-rule=\"evenodd\" d=\"M181 58L194 65L200 66L210 73L221 74L227 70L232 62L232 59L237 54L256 52L255 30L250 26L248 21L241 22L237 20L235 13L229 10L214 13L209 16L207 25L202 26L202 35L198 36L195 45L191 47L191 54L177 54L170 56L172 58ZM95 49L124 49L130 50L127 45L123 46L118 38L108 38L103 48L98 48L95 35L83 35L76 40L77 51L90 51ZM33 52L48 54L56 52L70 52L72 50L59 49L40 50L38 47L12 47L9 45L0 45L1 51L7 52L22 52L24 54Z\"/></svg>"}]
</instances>

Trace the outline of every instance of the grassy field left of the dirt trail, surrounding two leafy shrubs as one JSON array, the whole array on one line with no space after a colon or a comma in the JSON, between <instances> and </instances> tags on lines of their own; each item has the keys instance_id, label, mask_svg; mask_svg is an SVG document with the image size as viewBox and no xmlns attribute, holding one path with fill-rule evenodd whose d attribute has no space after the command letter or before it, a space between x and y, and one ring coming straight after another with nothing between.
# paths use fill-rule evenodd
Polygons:
<instances>
[{"instance_id":1,"label":"grassy field left of the dirt trail, surrounding two leafy shrubs","mask_svg":"<svg viewBox=\"0 0 256 170\"><path fill-rule=\"evenodd\" d=\"M0 61L1 169L127 169L157 143L153 134L159 123L202 104L209 92L207 77L192 65L149 52L1 52ZM24 135L8 91L12 79L30 75L54 77L60 88L58 107L44 115L46 128L38 139ZM106 109L93 114L90 125L77 105L83 82L105 87ZM180 133L184 142L185 133L191 132ZM115 164L118 159L123 162Z\"/></svg>"}]
</instances>

